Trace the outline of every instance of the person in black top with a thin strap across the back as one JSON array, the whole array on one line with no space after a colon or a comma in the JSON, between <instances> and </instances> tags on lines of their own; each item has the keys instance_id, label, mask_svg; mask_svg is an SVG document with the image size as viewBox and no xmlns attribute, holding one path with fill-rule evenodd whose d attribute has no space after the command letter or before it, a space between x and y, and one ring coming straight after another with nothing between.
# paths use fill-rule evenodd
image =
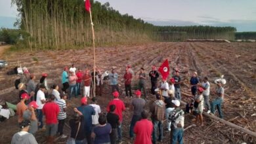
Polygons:
<instances>
[{"instance_id":1,"label":"person in black top with a thin strap across the back","mask_svg":"<svg viewBox=\"0 0 256 144\"><path fill-rule=\"evenodd\" d=\"M75 111L74 118L70 120L70 128L71 128L70 137L75 139L75 143L85 143L84 141L85 131L83 128L84 127L83 114L80 111L78 111L77 108L74 108L74 111Z\"/></svg>"}]
</instances>

